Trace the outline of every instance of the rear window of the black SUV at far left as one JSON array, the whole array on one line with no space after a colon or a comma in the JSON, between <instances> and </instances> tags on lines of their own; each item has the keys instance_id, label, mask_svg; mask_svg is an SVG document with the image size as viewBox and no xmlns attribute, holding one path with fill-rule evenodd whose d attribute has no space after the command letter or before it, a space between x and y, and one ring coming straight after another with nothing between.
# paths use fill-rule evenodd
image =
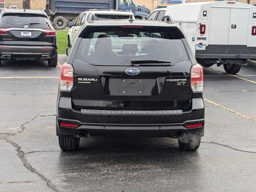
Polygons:
<instances>
[{"instance_id":1,"label":"rear window of the black SUV at far left","mask_svg":"<svg viewBox=\"0 0 256 192\"><path fill-rule=\"evenodd\" d=\"M2 22L10 25L41 26L49 23L47 16L40 14L8 13L2 17Z\"/></svg>"}]
</instances>

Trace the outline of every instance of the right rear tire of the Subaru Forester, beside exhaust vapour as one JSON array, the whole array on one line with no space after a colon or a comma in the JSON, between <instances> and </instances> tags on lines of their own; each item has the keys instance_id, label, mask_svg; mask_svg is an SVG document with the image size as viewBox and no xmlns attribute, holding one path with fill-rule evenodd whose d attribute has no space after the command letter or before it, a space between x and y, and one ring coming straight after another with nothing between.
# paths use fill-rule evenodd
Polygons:
<instances>
[{"instance_id":1,"label":"right rear tire of the Subaru Forester, beside exhaust vapour","mask_svg":"<svg viewBox=\"0 0 256 192\"><path fill-rule=\"evenodd\" d=\"M185 138L178 138L178 144L181 150L194 151L200 146L201 137L198 135L188 135Z\"/></svg>"}]
</instances>

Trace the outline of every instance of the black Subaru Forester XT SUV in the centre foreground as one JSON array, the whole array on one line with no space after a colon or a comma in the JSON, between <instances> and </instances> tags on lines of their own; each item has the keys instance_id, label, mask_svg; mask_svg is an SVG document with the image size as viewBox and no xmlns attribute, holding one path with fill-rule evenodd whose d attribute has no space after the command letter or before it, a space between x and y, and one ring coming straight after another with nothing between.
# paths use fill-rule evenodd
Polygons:
<instances>
[{"instance_id":1,"label":"black Subaru Forester XT SUV in the centre foreground","mask_svg":"<svg viewBox=\"0 0 256 192\"><path fill-rule=\"evenodd\" d=\"M138 136L178 138L182 150L196 150L204 135L202 91L203 69L176 24L88 22L61 67L60 148L77 150L90 136Z\"/></svg>"}]
</instances>

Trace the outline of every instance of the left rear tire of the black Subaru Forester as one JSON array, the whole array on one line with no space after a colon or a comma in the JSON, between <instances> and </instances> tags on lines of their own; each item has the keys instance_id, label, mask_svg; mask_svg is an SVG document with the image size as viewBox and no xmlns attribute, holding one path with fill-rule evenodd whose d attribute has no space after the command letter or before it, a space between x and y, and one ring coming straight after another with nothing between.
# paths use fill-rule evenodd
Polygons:
<instances>
[{"instance_id":1,"label":"left rear tire of the black Subaru Forester","mask_svg":"<svg viewBox=\"0 0 256 192\"><path fill-rule=\"evenodd\" d=\"M76 151L79 148L80 138L75 136L59 136L59 145L62 151Z\"/></svg>"}]
</instances>

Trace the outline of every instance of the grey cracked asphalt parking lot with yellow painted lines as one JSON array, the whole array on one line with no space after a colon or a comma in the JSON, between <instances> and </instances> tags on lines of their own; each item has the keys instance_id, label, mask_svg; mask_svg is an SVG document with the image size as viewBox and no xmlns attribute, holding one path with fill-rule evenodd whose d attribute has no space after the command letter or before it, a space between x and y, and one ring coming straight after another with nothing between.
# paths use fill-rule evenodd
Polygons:
<instances>
[{"instance_id":1,"label":"grey cracked asphalt parking lot with yellow painted lines","mask_svg":"<svg viewBox=\"0 0 256 192\"><path fill-rule=\"evenodd\" d=\"M63 64L66 56L59 56ZM0 191L256 190L256 67L204 69L205 133L180 151L171 138L87 138L62 152L55 133L60 68L4 61L0 68Z\"/></svg>"}]
</instances>

